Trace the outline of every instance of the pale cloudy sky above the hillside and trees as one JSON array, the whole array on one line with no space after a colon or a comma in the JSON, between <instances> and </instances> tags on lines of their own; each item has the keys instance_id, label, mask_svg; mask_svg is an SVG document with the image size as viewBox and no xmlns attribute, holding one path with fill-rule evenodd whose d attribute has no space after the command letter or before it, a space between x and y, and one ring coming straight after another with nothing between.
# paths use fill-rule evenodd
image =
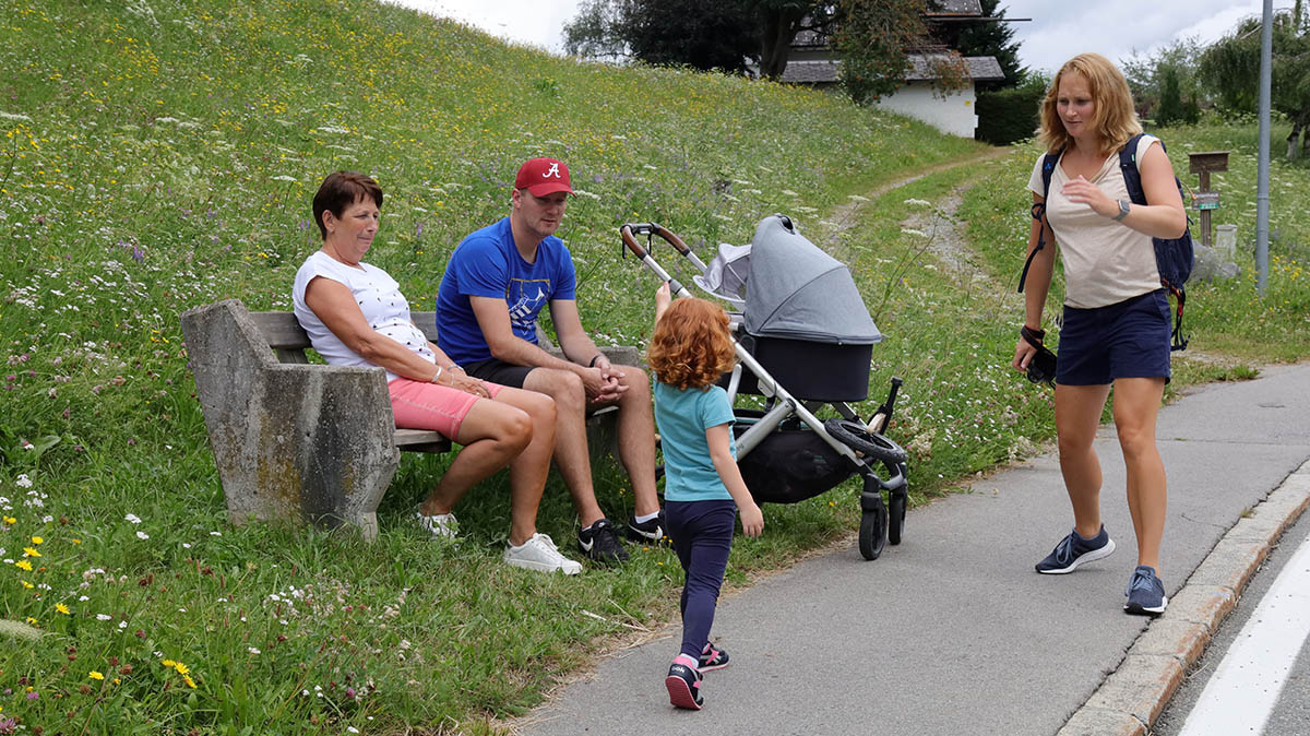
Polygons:
<instances>
[{"instance_id":1,"label":"pale cloudy sky above the hillside and trees","mask_svg":"<svg viewBox=\"0 0 1310 736\"><path fill-rule=\"evenodd\" d=\"M436 16L460 18L493 35L563 52L562 28L579 0L393 0ZM1275 8L1290 5L1276 0ZM1017 22L1024 65L1055 71L1074 54L1096 51L1117 62L1134 50L1149 52L1196 35L1210 42L1246 16L1260 14L1260 0L1002 0Z\"/></svg>"}]
</instances>

